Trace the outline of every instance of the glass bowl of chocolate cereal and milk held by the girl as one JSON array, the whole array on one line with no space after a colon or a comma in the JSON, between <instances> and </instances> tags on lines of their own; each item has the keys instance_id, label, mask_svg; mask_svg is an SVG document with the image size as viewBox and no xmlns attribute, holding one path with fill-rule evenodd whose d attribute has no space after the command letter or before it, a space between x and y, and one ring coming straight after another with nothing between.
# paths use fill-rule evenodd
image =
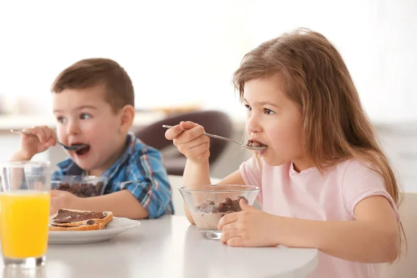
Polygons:
<instances>
[{"instance_id":1,"label":"glass bowl of chocolate cereal and milk held by the girl","mask_svg":"<svg viewBox=\"0 0 417 278\"><path fill-rule=\"evenodd\" d=\"M179 191L204 238L219 239L218 222L227 213L242 211L239 200L251 206L259 188L245 185L183 186Z\"/></svg>"}]
</instances>

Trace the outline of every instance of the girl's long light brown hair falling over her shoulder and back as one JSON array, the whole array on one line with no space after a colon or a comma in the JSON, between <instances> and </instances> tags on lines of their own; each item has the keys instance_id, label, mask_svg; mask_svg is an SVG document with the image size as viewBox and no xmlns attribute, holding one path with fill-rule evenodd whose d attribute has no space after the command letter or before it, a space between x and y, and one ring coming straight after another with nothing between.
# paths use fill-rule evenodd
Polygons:
<instances>
[{"instance_id":1,"label":"girl's long light brown hair falling over her shoulder and back","mask_svg":"<svg viewBox=\"0 0 417 278\"><path fill-rule=\"evenodd\" d=\"M305 28L263 42L245 55L234 72L240 99L245 82L274 76L300 107L304 149L320 172L349 158L371 163L399 207L400 187L336 47L324 35ZM407 246L401 223L399 229Z\"/></svg>"}]
</instances>

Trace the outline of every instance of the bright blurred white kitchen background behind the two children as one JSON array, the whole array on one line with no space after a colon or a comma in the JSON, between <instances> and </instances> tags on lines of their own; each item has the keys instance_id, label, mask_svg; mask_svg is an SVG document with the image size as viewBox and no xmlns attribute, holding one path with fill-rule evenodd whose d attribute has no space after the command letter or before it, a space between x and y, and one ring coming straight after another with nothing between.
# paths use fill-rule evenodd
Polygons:
<instances>
[{"instance_id":1,"label":"bright blurred white kitchen background behind the two children","mask_svg":"<svg viewBox=\"0 0 417 278\"><path fill-rule=\"evenodd\" d=\"M247 51L297 27L341 51L402 185L417 192L416 0L0 1L0 160L10 129L54 126L49 88L77 60L116 60L136 90L135 128L174 113L216 110L240 140L245 108L231 74ZM56 147L39 159L64 156ZM214 177L247 154L227 145Z\"/></svg>"}]
</instances>

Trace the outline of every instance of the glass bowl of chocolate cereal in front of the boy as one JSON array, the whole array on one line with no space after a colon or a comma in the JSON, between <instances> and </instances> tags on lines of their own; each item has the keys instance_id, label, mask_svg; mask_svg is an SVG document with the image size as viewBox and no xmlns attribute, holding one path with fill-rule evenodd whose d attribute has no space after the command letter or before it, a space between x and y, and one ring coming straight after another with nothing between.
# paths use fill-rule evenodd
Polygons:
<instances>
[{"instance_id":1,"label":"glass bowl of chocolate cereal in front of the boy","mask_svg":"<svg viewBox=\"0 0 417 278\"><path fill-rule=\"evenodd\" d=\"M68 191L78 197L95 197L103 195L106 183L106 177L69 175L52 180L51 186L57 190Z\"/></svg>"}]
</instances>

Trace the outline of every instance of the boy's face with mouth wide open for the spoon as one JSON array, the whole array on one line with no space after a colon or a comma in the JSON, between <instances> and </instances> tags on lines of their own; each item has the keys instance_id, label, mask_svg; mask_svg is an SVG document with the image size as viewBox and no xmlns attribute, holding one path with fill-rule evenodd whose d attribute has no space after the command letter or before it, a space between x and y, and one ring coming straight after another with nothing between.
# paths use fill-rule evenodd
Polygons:
<instances>
[{"instance_id":1,"label":"boy's face with mouth wide open for the spoon","mask_svg":"<svg viewBox=\"0 0 417 278\"><path fill-rule=\"evenodd\" d=\"M115 113L106 102L101 85L65 89L52 95L58 140L65 145L89 145L77 152L66 152L83 170L102 174L117 161L124 146L122 113Z\"/></svg>"}]
</instances>

